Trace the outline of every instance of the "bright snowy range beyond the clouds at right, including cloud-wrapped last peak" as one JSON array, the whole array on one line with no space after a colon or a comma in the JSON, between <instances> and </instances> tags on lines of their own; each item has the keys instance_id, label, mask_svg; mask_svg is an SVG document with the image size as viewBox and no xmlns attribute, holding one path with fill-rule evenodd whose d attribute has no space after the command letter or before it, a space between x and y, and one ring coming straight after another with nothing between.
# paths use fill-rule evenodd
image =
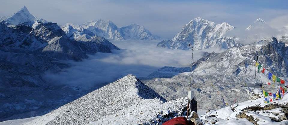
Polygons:
<instances>
[{"instance_id":1,"label":"bright snowy range beyond the clouds at right, including cloud-wrapped last peak","mask_svg":"<svg viewBox=\"0 0 288 125\"><path fill-rule=\"evenodd\" d=\"M242 31L242 43L236 36L232 35L231 31L235 31L235 27L223 22L222 24L215 24L214 22L195 18L191 20L173 37L171 40L163 40L158 42L158 47L170 49L188 50L188 44L193 45L194 50L207 49L207 48L232 48L244 45L243 43L249 41L255 42L267 39L272 35L278 35L278 31L271 28L266 22L259 18L253 24ZM244 41L244 42L243 42Z\"/></svg>"}]
</instances>

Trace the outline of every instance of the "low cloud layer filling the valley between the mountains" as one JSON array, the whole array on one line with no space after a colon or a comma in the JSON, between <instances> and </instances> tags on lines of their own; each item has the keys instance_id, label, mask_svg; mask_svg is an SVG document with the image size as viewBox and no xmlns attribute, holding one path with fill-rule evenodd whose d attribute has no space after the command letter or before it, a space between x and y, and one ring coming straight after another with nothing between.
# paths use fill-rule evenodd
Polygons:
<instances>
[{"instance_id":1,"label":"low cloud layer filling the valley between the mountains","mask_svg":"<svg viewBox=\"0 0 288 125\"><path fill-rule=\"evenodd\" d=\"M157 41L115 41L122 50L113 54L96 53L82 62L68 61L70 68L59 73L47 72L45 79L57 85L79 86L83 89L100 87L127 74L146 77L163 66L188 67L192 51L157 48ZM194 51L198 60L204 52L220 52L219 49Z\"/></svg>"}]
</instances>

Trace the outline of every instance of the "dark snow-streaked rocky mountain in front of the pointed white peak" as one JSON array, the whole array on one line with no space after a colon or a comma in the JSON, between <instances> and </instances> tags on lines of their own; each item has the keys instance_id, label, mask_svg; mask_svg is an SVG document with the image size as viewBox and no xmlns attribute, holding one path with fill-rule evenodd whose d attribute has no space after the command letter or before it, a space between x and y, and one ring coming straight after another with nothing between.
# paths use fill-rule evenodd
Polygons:
<instances>
[{"instance_id":1,"label":"dark snow-streaked rocky mountain in front of the pointed white peak","mask_svg":"<svg viewBox=\"0 0 288 125\"><path fill-rule=\"evenodd\" d=\"M3 51L44 54L56 59L77 61L88 57L79 43L68 39L56 23L23 23L10 28L1 22L0 32Z\"/></svg>"}]
</instances>

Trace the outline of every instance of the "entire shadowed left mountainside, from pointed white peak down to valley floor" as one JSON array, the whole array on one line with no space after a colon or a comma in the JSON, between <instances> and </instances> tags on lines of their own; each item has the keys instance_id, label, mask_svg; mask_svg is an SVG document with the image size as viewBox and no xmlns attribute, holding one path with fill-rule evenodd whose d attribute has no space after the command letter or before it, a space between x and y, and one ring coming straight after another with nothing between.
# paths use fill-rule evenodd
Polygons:
<instances>
[{"instance_id":1,"label":"entire shadowed left mountainside, from pointed white peak down to valley floor","mask_svg":"<svg viewBox=\"0 0 288 125\"><path fill-rule=\"evenodd\" d=\"M43 115L89 92L49 84L43 76L69 67L65 60L81 61L87 54L119 50L103 37L70 39L56 23L36 19L26 7L1 20L0 121Z\"/></svg>"}]
</instances>

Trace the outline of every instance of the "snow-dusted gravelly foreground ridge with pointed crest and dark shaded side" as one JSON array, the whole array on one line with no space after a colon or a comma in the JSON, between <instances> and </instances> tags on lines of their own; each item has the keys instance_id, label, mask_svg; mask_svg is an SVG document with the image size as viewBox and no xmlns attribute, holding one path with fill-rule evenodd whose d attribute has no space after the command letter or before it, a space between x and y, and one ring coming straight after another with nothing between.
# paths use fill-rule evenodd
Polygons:
<instances>
[{"instance_id":1,"label":"snow-dusted gravelly foreground ridge with pointed crest and dark shaded side","mask_svg":"<svg viewBox=\"0 0 288 125\"><path fill-rule=\"evenodd\" d=\"M153 124L157 121L152 114L166 108L183 112L185 104L185 99L166 102L135 76L128 75L27 124Z\"/></svg>"}]
</instances>

